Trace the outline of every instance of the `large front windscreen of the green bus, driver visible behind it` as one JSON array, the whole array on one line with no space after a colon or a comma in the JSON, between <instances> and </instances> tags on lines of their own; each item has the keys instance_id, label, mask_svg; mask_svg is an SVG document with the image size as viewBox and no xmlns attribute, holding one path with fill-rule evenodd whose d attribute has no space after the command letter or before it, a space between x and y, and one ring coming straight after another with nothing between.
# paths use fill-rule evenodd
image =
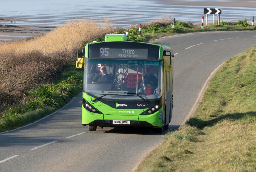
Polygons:
<instances>
[{"instance_id":1,"label":"large front windscreen of the green bus, driver visible behind it","mask_svg":"<svg viewBox=\"0 0 256 172\"><path fill-rule=\"evenodd\" d=\"M162 95L162 61L86 59L84 70L83 91L94 98L140 101Z\"/></svg>"}]
</instances>

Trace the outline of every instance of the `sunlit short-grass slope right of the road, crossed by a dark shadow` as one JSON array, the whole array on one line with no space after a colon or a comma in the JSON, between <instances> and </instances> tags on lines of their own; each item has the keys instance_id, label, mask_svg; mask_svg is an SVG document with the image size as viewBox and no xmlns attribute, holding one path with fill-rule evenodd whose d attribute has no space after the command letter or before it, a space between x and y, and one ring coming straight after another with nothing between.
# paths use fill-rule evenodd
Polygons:
<instances>
[{"instance_id":1,"label":"sunlit short-grass slope right of the road, crossed by a dark shadow","mask_svg":"<svg viewBox=\"0 0 256 172\"><path fill-rule=\"evenodd\" d=\"M137 170L256 171L256 46L226 61L192 118Z\"/></svg>"}]
</instances>

